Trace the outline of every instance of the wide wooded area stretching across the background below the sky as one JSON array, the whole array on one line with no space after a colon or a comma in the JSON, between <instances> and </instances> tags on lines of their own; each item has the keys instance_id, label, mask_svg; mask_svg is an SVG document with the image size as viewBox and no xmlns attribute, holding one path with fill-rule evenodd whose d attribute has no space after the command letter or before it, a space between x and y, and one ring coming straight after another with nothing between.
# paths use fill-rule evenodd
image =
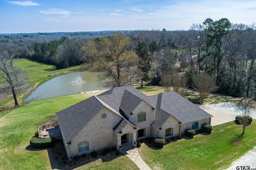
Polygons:
<instances>
[{"instance_id":1,"label":"wide wooded area stretching across the background below the sky","mask_svg":"<svg viewBox=\"0 0 256 170\"><path fill-rule=\"evenodd\" d=\"M182 94L204 72L214 78L218 93L256 99L255 37L255 23L207 18L188 31L10 34L0 35L0 43L16 49L16 58L57 69L86 64L103 72L106 87L151 80Z\"/></svg>"}]
</instances>

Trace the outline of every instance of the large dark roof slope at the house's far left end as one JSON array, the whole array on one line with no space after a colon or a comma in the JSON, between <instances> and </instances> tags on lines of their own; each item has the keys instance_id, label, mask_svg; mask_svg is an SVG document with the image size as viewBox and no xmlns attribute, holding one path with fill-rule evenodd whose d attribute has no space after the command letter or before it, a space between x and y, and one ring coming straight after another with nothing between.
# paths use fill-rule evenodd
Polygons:
<instances>
[{"instance_id":1,"label":"large dark roof slope at the house's far left end","mask_svg":"<svg viewBox=\"0 0 256 170\"><path fill-rule=\"evenodd\" d=\"M56 113L65 143L70 140L96 115L104 105L92 96Z\"/></svg>"}]
</instances>

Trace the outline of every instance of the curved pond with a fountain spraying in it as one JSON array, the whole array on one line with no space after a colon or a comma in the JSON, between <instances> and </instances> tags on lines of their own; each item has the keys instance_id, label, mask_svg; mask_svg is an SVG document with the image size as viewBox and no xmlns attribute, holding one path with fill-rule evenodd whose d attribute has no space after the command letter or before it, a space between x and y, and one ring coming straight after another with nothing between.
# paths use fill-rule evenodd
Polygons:
<instances>
[{"instance_id":1,"label":"curved pond with a fountain spraying in it","mask_svg":"<svg viewBox=\"0 0 256 170\"><path fill-rule=\"evenodd\" d=\"M23 102L52 98L80 92L104 90L98 82L100 72L72 72L52 78L38 86Z\"/></svg>"}]
</instances>

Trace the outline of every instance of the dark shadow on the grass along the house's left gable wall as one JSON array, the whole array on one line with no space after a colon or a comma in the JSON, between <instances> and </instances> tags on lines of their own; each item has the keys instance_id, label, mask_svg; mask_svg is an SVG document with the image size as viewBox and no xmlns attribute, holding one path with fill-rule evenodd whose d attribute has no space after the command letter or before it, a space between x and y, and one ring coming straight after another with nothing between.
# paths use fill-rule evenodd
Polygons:
<instances>
[{"instance_id":1,"label":"dark shadow on the grass along the house's left gable wall","mask_svg":"<svg viewBox=\"0 0 256 170\"><path fill-rule=\"evenodd\" d=\"M29 151L40 151L47 150L51 168L60 169L60 170L72 170L80 166L84 166L90 162L101 160L101 162L110 162L120 156L120 152L117 150L112 150L106 154L103 154L103 150L97 152L97 157L93 158L91 154L82 154L80 156L75 156L71 160L68 160L66 150L62 140L56 141L56 144L53 147L37 149L28 145L26 150Z\"/></svg>"}]
</instances>

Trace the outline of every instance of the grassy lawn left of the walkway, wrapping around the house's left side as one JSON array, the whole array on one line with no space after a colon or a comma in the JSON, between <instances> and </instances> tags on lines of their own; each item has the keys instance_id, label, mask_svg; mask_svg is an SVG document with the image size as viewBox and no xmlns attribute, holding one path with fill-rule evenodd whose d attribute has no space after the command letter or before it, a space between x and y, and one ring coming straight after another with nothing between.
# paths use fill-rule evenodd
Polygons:
<instances>
[{"instance_id":1,"label":"grassy lawn left of the walkway, wrapping around the house's left side","mask_svg":"<svg viewBox=\"0 0 256 170\"><path fill-rule=\"evenodd\" d=\"M48 150L31 151L29 141L40 125L53 123L55 113L95 94L75 94L24 104L0 118L0 169L52 169ZM124 164L122 163L124 162ZM61 167L60 167L61 168ZM126 156L110 162L96 160L78 169L136 169Z\"/></svg>"}]
</instances>

